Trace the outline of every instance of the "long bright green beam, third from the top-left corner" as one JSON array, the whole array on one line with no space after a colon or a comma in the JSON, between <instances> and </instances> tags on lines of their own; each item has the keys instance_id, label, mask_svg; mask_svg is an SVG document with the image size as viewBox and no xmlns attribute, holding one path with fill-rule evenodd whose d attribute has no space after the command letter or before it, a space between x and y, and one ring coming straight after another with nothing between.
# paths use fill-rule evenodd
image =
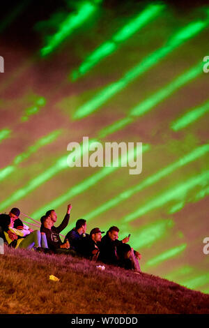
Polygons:
<instances>
[{"instance_id":1,"label":"long bright green beam, third from the top-left corner","mask_svg":"<svg viewBox=\"0 0 209 328\"><path fill-rule=\"evenodd\" d=\"M208 23L209 20L204 22L192 22L187 27L178 31L178 33L176 33L175 36L173 36L171 40L169 40L166 45L164 45L164 47L148 55L146 59L142 60L137 66L134 66L134 68L125 73L121 80L109 84L107 87L102 89L102 91L100 91L93 99L88 100L86 103L84 103L84 105L78 107L73 114L72 119L82 119L92 112L95 112L95 110L98 110L98 108L101 107L107 100L109 100L109 98L127 87L130 82L139 77L139 75L145 73L146 70L151 68L153 65L156 65L160 59L164 58L167 54L169 54L179 45L183 44L189 38L196 36L197 33L207 27ZM147 105L150 105L148 100L146 106ZM135 115L136 111L138 112L137 108L132 110L131 114Z\"/></svg>"}]
</instances>

